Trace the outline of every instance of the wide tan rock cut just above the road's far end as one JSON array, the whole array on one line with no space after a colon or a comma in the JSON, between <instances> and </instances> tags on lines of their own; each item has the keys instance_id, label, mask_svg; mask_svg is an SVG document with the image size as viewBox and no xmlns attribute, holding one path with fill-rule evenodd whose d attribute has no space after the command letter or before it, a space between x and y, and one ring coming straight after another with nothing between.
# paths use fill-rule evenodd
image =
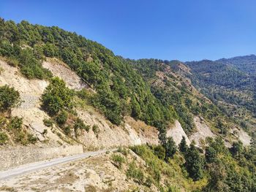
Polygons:
<instances>
[{"instance_id":1,"label":"wide tan rock cut just above the road's far end","mask_svg":"<svg viewBox=\"0 0 256 192\"><path fill-rule=\"evenodd\" d=\"M89 132L83 131L79 140L87 148L110 148L119 145L142 145L146 143L157 145L158 132L156 128L149 128L145 131L145 126L141 126L135 130L135 126L141 122L137 122L132 118L126 118L124 126L114 126L108 120L95 111L78 110L78 116L84 120L87 125L97 126L99 133L95 134L92 128ZM131 125L132 126L131 126Z\"/></svg>"}]
</instances>

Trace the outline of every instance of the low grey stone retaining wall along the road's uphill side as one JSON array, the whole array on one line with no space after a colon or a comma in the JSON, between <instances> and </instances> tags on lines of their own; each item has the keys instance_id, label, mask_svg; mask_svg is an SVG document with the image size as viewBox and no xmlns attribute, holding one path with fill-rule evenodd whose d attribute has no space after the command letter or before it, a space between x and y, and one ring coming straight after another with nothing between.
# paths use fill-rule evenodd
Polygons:
<instances>
[{"instance_id":1,"label":"low grey stone retaining wall along the road's uphill side","mask_svg":"<svg viewBox=\"0 0 256 192\"><path fill-rule=\"evenodd\" d=\"M20 147L14 150L0 150L0 171L65 155L83 153L82 145L61 147Z\"/></svg>"}]
</instances>

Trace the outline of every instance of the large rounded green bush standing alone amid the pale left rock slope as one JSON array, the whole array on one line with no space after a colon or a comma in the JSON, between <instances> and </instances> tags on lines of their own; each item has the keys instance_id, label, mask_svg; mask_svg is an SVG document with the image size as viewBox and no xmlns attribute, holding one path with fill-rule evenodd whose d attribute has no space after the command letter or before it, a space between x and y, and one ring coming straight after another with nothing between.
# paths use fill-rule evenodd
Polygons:
<instances>
[{"instance_id":1,"label":"large rounded green bush standing alone amid the pale left rock slope","mask_svg":"<svg viewBox=\"0 0 256 192\"><path fill-rule=\"evenodd\" d=\"M42 108L49 115L56 115L60 110L71 109L72 91L66 87L66 84L59 77L50 80L50 85L45 89L42 95Z\"/></svg>"}]
</instances>

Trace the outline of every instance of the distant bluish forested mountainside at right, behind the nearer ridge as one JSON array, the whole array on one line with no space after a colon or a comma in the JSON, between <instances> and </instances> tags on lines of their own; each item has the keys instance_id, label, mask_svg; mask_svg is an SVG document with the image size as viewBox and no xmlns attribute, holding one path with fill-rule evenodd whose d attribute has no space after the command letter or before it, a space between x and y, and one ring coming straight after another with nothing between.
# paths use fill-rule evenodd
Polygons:
<instances>
[{"instance_id":1,"label":"distant bluish forested mountainside at right, behind the nearer ridge","mask_svg":"<svg viewBox=\"0 0 256 192\"><path fill-rule=\"evenodd\" d=\"M186 63L193 85L205 94L229 118L252 133L255 131L256 76L255 55Z\"/></svg>"}]
</instances>

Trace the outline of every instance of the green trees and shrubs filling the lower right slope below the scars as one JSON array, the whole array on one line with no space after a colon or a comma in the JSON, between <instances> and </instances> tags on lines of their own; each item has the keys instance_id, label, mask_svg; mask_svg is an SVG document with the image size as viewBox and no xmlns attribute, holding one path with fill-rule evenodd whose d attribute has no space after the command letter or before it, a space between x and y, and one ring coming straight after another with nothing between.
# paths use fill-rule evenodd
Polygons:
<instances>
[{"instance_id":1,"label":"green trees and shrubs filling the lower right slope below the scars","mask_svg":"<svg viewBox=\"0 0 256 192\"><path fill-rule=\"evenodd\" d=\"M163 161L161 155L159 158L156 146L131 149L146 161L148 167L143 174L150 174L152 183L159 189L167 190L170 187L167 184L171 183L176 191L255 191L256 145L244 147L235 142L229 150L220 137L209 138L207 144L205 154L192 143L187 152L177 151L168 161ZM131 172L138 169L130 164L127 172L136 177L137 174ZM160 180L165 180L165 185L161 185Z\"/></svg>"}]
</instances>

